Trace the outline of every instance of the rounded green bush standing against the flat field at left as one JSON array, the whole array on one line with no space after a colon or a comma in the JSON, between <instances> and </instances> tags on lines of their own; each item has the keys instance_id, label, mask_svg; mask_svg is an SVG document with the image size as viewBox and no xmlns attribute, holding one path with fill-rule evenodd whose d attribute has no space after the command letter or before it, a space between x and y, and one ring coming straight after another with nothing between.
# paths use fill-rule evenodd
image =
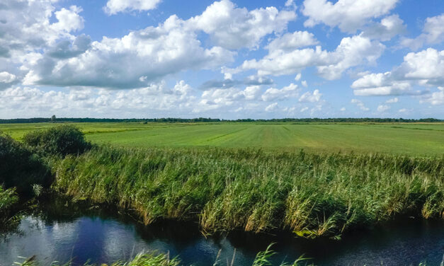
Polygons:
<instances>
[{"instance_id":1,"label":"rounded green bush standing against the flat field at left","mask_svg":"<svg viewBox=\"0 0 444 266\"><path fill-rule=\"evenodd\" d=\"M91 143L86 141L84 133L72 125L60 125L47 130L37 130L25 134L25 144L34 151L44 154L82 154L91 149Z\"/></svg>"}]
</instances>

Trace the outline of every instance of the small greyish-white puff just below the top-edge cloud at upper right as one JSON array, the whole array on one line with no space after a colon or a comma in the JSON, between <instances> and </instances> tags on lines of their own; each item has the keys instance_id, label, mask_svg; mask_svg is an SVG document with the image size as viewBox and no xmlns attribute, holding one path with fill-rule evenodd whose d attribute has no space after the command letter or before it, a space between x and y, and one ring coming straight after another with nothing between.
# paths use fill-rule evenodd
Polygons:
<instances>
[{"instance_id":1,"label":"small greyish-white puff just below the top-edge cloud at upper right","mask_svg":"<svg viewBox=\"0 0 444 266\"><path fill-rule=\"evenodd\" d=\"M392 15L382 18L380 23L372 23L368 28L365 28L363 36L386 41L405 31L404 21L398 15Z\"/></svg>"}]
</instances>

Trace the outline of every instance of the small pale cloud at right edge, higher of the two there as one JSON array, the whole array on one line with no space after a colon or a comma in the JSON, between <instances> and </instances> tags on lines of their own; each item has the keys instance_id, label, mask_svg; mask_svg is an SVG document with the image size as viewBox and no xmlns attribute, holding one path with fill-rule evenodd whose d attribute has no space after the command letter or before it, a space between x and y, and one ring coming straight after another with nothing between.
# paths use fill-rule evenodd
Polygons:
<instances>
[{"instance_id":1,"label":"small pale cloud at right edge, higher of the two there","mask_svg":"<svg viewBox=\"0 0 444 266\"><path fill-rule=\"evenodd\" d=\"M414 39L405 38L401 45L418 50L423 45L433 45L444 41L444 13L440 16L426 18L423 33Z\"/></svg>"}]
</instances>

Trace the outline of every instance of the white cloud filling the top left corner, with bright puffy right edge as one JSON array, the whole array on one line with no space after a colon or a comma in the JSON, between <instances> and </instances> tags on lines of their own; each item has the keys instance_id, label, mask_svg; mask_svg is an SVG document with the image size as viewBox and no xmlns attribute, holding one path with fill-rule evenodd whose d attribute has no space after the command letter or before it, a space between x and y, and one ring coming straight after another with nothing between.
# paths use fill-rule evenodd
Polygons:
<instances>
[{"instance_id":1,"label":"white cloud filling the top left corner, with bright puffy right edge","mask_svg":"<svg viewBox=\"0 0 444 266\"><path fill-rule=\"evenodd\" d=\"M17 60L26 52L52 45L60 38L73 37L72 31L84 27L84 19L79 15L81 11L78 6L55 11L50 0L2 1L0 57ZM55 20L52 23L53 15Z\"/></svg>"}]
</instances>

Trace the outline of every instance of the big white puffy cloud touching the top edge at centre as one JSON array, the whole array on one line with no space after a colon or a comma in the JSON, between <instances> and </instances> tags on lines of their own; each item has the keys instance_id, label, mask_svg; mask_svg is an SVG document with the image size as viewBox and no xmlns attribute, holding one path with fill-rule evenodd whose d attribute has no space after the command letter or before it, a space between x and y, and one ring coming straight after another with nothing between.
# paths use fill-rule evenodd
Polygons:
<instances>
[{"instance_id":1,"label":"big white puffy cloud touching the top edge at centre","mask_svg":"<svg viewBox=\"0 0 444 266\"><path fill-rule=\"evenodd\" d=\"M295 18L295 11L278 11L273 6L248 11L222 0L208 6L200 16L190 18L188 27L203 30L220 47L256 48L264 36L282 32Z\"/></svg>"}]
</instances>

